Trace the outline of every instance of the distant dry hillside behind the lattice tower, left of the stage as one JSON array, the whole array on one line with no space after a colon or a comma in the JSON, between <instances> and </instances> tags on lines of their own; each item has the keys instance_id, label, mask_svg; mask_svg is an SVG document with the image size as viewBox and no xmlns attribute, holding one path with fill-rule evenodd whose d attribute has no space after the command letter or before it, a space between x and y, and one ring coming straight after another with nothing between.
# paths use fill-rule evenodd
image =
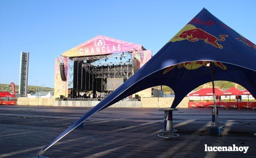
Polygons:
<instances>
[{"instance_id":1,"label":"distant dry hillside behind the lattice tower, left of the stage","mask_svg":"<svg viewBox=\"0 0 256 158\"><path fill-rule=\"evenodd\" d=\"M19 85L15 85L15 86L16 86L16 93L18 93ZM54 91L54 88L41 87L41 86L37 86L37 89L39 89L40 92ZM10 84L0 84L0 91L12 92L12 87ZM36 86L28 86L28 92L30 93L31 91L36 91Z\"/></svg>"}]
</instances>

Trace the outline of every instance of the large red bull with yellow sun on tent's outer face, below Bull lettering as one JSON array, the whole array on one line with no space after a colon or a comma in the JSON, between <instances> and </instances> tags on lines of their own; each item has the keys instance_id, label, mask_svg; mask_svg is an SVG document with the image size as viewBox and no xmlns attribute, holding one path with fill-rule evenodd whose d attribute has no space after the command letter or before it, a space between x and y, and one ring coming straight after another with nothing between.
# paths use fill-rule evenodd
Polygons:
<instances>
[{"instance_id":1,"label":"large red bull with yellow sun on tent's outer face, below Bull lettering","mask_svg":"<svg viewBox=\"0 0 256 158\"><path fill-rule=\"evenodd\" d=\"M216 48L222 49L223 46L218 43L218 41L225 41L225 37L228 35L219 35L220 38L217 38L208 32L196 26L188 24L182 30L180 30L169 42L188 40L191 42L196 42L199 40L204 40L205 43L210 44Z\"/></svg>"}]
</instances>

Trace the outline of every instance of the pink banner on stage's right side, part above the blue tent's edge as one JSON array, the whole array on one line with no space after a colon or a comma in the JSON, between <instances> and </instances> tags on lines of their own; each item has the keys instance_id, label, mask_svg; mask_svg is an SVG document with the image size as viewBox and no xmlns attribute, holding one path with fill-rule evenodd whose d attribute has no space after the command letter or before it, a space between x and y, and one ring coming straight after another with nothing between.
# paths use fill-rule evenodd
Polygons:
<instances>
[{"instance_id":1,"label":"pink banner on stage's right side, part above the blue tent's edge","mask_svg":"<svg viewBox=\"0 0 256 158\"><path fill-rule=\"evenodd\" d=\"M137 60L137 68L138 70L151 59L152 57L152 51L146 50L146 51L133 51L133 58L138 59Z\"/></svg>"}]
</instances>

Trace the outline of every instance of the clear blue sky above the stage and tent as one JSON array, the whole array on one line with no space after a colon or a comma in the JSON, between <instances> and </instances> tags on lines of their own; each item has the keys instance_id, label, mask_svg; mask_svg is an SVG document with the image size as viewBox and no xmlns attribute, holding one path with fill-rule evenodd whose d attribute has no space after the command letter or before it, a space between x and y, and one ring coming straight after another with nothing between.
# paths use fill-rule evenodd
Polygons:
<instances>
[{"instance_id":1,"label":"clear blue sky above the stage and tent","mask_svg":"<svg viewBox=\"0 0 256 158\"><path fill-rule=\"evenodd\" d=\"M54 88L57 55L99 34L156 53L205 7L256 43L256 1L0 1L0 83L18 84L20 52L30 52L28 84Z\"/></svg>"}]
</instances>

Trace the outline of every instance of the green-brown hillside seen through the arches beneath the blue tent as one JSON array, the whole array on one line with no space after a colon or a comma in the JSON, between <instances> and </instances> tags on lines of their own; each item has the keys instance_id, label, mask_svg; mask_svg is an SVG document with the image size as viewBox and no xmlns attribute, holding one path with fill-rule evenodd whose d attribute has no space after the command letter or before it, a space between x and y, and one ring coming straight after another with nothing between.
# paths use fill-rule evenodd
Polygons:
<instances>
[{"instance_id":1,"label":"green-brown hillside seen through the arches beneath the blue tent","mask_svg":"<svg viewBox=\"0 0 256 158\"><path fill-rule=\"evenodd\" d=\"M219 90L221 90L222 88L231 88L233 86L236 88L243 88L239 84L236 84L234 82L229 82L229 81L214 81L214 86L215 86L215 88L218 88ZM197 87L195 90L199 90L201 88L212 88L212 82L203 84L203 85ZM163 86L163 91L164 91L164 93L170 93L171 88L167 87L167 86Z\"/></svg>"}]
</instances>

